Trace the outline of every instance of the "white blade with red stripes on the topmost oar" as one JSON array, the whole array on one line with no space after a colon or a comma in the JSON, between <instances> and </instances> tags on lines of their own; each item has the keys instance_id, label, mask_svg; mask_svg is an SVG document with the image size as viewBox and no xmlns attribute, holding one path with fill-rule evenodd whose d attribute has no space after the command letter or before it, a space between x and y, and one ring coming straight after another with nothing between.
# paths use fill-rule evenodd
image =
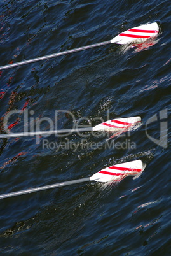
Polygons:
<instances>
[{"instance_id":1,"label":"white blade with red stripes on the topmost oar","mask_svg":"<svg viewBox=\"0 0 171 256\"><path fill-rule=\"evenodd\" d=\"M159 32L159 26L157 22L153 22L146 25L140 25L139 27L133 27L122 32L111 40L111 43L118 43L125 45L128 43L142 43L150 38L155 38Z\"/></svg>"}]
</instances>

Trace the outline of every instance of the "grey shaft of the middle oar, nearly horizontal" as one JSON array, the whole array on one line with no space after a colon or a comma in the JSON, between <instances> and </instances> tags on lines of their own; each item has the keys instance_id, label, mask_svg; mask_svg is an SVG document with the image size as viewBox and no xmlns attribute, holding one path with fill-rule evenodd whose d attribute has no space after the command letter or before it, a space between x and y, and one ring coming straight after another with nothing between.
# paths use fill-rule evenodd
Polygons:
<instances>
[{"instance_id":1,"label":"grey shaft of the middle oar, nearly horizontal","mask_svg":"<svg viewBox=\"0 0 171 256\"><path fill-rule=\"evenodd\" d=\"M93 127L85 127L85 128L78 128L78 129L61 129L61 130L52 130L52 131L6 133L6 134L0 134L0 139L38 136L38 135L43 136L43 135L51 135L51 134L65 134L65 133L72 133L72 132L90 132L90 131L93 131Z\"/></svg>"}]
</instances>

